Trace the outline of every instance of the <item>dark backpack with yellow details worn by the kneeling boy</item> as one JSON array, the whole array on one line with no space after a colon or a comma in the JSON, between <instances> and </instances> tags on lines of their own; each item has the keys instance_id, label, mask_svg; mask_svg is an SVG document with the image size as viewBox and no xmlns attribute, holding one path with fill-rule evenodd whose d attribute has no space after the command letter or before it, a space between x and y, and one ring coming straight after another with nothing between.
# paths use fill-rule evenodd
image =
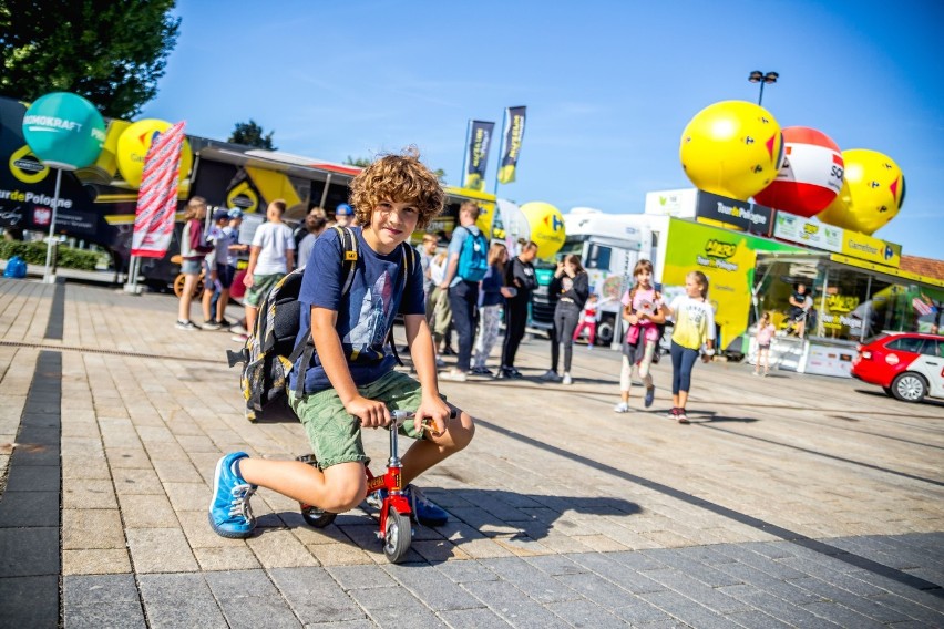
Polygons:
<instances>
[{"instance_id":1,"label":"dark backpack with yellow details worn by the kneeling boy","mask_svg":"<svg viewBox=\"0 0 944 629\"><path fill-rule=\"evenodd\" d=\"M335 227L343 245L341 265L343 268L341 296L348 293L353 282L355 269L359 257L357 237L348 227ZM417 251L406 243L400 246L403 255L401 274L406 275L403 288L409 286L410 277L417 266ZM259 302L259 311L246 347L239 351L227 351L229 367L244 363L239 378L239 388L246 399L246 419L255 422L296 420L295 411L288 404L288 373L293 365L302 359L308 364L315 351L311 329L306 331L301 342L296 344L301 321L301 278L305 269L296 269L281 278ZM399 282L398 282L399 283ZM401 365L397 347L393 344L393 330L388 334L393 357ZM296 393L304 392L305 378L300 374Z\"/></svg>"}]
</instances>

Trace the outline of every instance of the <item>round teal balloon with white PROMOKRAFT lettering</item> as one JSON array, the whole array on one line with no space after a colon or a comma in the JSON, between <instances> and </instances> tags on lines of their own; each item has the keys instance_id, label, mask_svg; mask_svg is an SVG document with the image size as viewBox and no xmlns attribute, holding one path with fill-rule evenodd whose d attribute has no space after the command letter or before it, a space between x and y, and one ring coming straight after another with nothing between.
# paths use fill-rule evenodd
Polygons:
<instances>
[{"instance_id":1,"label":"round teal balloon with white PROMOKRAFT lettering","mask_svg":"<svg viewBox=\"0 0 944 629\"><path fill-rule=\"evenodd\" d=\"M105 121L82 96L53 92L40 96L27 110L23 137L45 165L75 171L99 158L105 143Z\"/></svg>"}]
</instances>

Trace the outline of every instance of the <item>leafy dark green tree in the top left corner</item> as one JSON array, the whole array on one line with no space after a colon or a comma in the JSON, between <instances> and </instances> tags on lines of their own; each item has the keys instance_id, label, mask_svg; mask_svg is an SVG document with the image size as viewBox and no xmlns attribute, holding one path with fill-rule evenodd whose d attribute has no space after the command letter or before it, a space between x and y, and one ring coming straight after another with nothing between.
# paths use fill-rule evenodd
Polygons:
<instances>
[{"instance_id":1,"label":"leafy dark green tree in the top left corner","mask_svg":"<svg viewBox=\"0 0 944 629\"><path fill-rule=\"evenodd\" d=\"M131 118L157 93L181 19L174 0L0 0L0 93L73 92Z\"/></svg>"}]
</instances>

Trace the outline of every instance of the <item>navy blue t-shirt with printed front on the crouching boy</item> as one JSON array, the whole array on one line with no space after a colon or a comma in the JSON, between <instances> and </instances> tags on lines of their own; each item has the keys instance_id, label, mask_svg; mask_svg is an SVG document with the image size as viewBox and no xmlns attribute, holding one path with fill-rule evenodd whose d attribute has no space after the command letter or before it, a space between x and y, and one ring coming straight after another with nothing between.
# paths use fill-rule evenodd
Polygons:
<instances>
[{"instance_id":1,"label":"navy blue t-shirt with printed front on the crouching boy","mask_svg":"<svg viewBox=\"0 0 944 629\"><path fill-rule=\"evenodd\" d=\"M367 245L360 227L351 229L358 243L358 260L350 290L343 298L343 244L340 236L337 230L328 229L315 241L298 295L300 324L296 344L301 342L306 330L311 327L312 306L336 310L336 330L348 360L348 369L355 384L363 386L397 364L393 354L387 353L384 344L396 314L424 313L423 270L417 264L413 277L406 281L407 270L400 270L404 262L400 247L392 254L380 255ZM293 389L302 369L300 362L301 359L298 359L289 375ZM316 350L305 372L305 392L315 393L330 388L331 383Z\"/></svg>"}]
</instances>

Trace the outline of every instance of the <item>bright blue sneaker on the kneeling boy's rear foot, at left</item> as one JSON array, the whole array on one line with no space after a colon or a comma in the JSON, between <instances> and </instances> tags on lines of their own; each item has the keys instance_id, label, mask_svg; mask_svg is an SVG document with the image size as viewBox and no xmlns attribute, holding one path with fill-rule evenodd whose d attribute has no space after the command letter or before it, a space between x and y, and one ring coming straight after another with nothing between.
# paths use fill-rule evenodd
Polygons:
<instances>
[{"instance_id":1,"label":"bright blue sneaker on the kneeling boy's rear foot, at left","mask_svg":"<svg viewBox=\"0 0 944 629\"><path fill-rule=\"evenodd\" d=\"M211 528L223 537L249 537L256 527L249 498L257 486L248 484L235 470L237 461L248 457L245 452L234 452L216 463L208 515Z\"/></svg>"}]
</instances>

